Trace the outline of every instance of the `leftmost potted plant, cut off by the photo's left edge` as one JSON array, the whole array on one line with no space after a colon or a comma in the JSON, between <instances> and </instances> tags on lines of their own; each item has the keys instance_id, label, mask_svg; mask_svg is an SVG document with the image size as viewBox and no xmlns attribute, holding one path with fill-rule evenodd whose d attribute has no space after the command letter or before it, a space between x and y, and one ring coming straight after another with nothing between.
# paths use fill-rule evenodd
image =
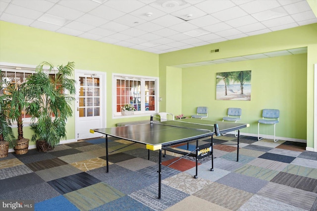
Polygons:
<instances>
[{"instance_id":1,"label":"leftmost potted plant, cut off by the photo's left edge","mask_svg":"<svg viewBox=\"0 0 317 211\"><path fill-rule=\"evenodd\" d=\"M2 81L2 74L0 70L0 88L1 92L6 87L6 82ZM10 119L8 118L10 107L8 106L6 96L0 95L0 158L8 156L9 148L14 147L14 135L11 127Z\"/></svg>"}]
</instances>

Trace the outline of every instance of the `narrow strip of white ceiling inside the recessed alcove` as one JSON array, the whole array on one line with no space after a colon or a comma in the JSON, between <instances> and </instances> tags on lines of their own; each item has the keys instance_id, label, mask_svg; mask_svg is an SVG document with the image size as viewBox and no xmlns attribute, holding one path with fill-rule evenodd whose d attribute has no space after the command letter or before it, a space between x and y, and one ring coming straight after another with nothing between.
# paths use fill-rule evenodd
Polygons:
<instances>
[{"instance_id":1,"label":"narrow strip of white ceiling inside the recessed alcove","mask_svg":"<svg viewBox=\"0 0 317 211\"><path fill-rule=\"evenodd\" d=\"M269 57L276 57L276 56L294 55L294 54L301 54L301 53L307 53L307 47L272 51L267 53L259 53L259 54L245 55L245 56L237 56L237 57L224 58L224 59L215 59L215 60L209 60L209 61L203 61L203 62L180 64L180 65L174 65L172 67L178 67L178 68L198 67L198 66L204 66L204 65L238 62L238 61L262 59L262 58L269 58Z\"/></svg>"}]
</instances>

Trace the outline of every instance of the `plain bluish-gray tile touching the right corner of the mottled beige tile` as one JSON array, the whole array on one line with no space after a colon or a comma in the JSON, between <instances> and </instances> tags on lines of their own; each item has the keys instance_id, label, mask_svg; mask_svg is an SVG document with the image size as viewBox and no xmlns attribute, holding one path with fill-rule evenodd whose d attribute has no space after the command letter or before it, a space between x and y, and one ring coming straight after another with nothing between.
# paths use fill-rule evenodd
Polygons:
<instances>
[{"instance_id":1,"label":"plain bluish-gray tile touching the right corner of the mottled beige tile","mask_svg":"<svg viewBox=\"0 0 317 211\"><path fill-rule=\"evenodd\" d=\"M257 193L268 183L268 181L262 179L241 175L234 172L221 177L220 179L216 180L216 182L250 193Z\"/></svg>"}]
</instances>

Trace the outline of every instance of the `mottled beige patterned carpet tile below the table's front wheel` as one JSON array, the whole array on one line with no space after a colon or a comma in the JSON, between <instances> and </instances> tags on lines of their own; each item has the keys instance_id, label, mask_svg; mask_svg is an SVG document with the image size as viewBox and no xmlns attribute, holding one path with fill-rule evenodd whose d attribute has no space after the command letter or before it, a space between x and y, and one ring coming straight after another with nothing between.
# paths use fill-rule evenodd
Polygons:
<instances>
[{"instance_id":1,"label":"mottled beige patterned carpet tile below the table's front wheel","mask_svg":"<svg viewBox=\"0 0 317 211\"><path fill-rule=\"evenodd\" d=\"M192 195L206 185L211 184L210 180L203 178L194 178L191 174L181 172L162 181L162 184L173 187L182 192Z\"/></svg>"}]
</instances>

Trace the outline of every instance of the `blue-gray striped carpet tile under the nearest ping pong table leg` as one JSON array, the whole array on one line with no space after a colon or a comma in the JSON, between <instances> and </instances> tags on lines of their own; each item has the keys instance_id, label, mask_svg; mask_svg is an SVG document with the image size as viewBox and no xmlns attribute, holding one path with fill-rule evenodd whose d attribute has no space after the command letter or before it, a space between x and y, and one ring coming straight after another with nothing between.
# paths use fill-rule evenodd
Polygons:
<instances>
[{"instance_id":1,"label":"blue-gray striped carpet tile under the nearest ping pong table leg","mask_svg":"<svg viewBox=\"0 0 317 211\"><path fill-rule=\"evenodd\" d=\"M159 187L156 183L133 192L129 196L156 211L164 211L189 196L187 193L162 184L161 198L158 199L158 191Z\"/></svg>"}]
</instances>

